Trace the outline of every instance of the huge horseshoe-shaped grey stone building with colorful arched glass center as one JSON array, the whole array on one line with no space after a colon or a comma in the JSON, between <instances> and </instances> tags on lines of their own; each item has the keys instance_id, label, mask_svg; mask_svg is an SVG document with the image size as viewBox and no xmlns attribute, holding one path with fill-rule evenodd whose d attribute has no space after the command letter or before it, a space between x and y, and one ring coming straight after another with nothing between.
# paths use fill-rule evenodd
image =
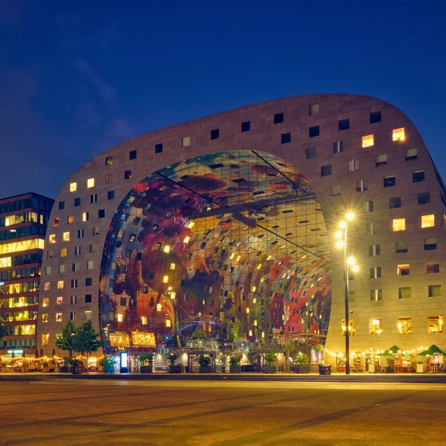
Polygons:
<instances>
[{"instance_id":1,"label":"huge horseshoe-shaped grey stone building with colorful arched glass center","mask_svg":"<svg viewBox=\"0 0 446 446\"><path fill-rule=\"evenodd\" d=\"M231 351L253 366L275 351L285 370L298 351L321 359L318 344L336 364L346 330L355 364L445 349L445 196L413 123L362 95L271 100L125 141L56 198L38 348L66 355L63 325L91 319L96 356L127 351L132 369L147 352L155 369L174 352L194 371L201 354L217 370Z\"/></svg>"}]
</instances>

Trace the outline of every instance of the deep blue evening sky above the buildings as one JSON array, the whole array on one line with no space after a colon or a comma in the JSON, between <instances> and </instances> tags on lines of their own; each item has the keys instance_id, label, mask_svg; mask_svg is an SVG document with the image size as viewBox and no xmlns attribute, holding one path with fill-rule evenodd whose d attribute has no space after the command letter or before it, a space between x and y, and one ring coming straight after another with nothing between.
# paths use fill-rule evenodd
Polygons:
<instances>
[{"instance_id":1,"label":"deep blue evening sky above the buildings","mask_svg":"<svg viewBox=\"0 0 446 446\"><path fill-rule=\"evenodd\" d=\"M0 197L56 197L97 153L311 93L399 107L446 179L446 3L2 2Z\"/></svg>"}]
</instances>

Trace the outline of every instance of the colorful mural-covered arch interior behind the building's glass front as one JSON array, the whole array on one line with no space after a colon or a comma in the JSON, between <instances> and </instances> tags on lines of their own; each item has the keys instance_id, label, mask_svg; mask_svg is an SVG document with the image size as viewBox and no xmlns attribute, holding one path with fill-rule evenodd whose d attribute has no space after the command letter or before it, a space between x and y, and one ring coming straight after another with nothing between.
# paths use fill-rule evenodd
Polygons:
<instances>
[{"instance_id":1,"label":"colorful mural-covered arch interior behind the building's glass front","mask_svg":"<svg viewBox=\"0 0 446 446\"><path fill-rule=\"evenodd\" d=\"M330 303L319 203L307 178L269 153L165 167L130 190L109 227L100 271L106 351L153 346L144 333L156 346L323 339Z\"/></svg>"}]
</instances>

